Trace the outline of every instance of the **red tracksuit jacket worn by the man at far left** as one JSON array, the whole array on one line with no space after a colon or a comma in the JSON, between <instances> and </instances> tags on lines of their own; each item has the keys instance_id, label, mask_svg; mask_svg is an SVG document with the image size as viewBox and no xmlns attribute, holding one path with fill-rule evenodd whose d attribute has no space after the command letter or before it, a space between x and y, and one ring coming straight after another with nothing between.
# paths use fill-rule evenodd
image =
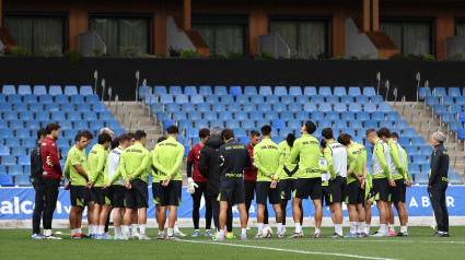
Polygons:
<instances>
[{"instance_id":1,"label":"red tracksuit jacket worn by the man at far left","mask_svg":"<svg viewBox=\"0 0 465 260\"><path fill-rule=\"evenodd\" d=\"M47 156L50 156L49 162L53 167L47 164ZM61 172L57 143L51 138L46 138L40 145L42 164L44 165L44 173L42 177L45 178L60 178L63 173Z\"/></svg>"}]
</instances>

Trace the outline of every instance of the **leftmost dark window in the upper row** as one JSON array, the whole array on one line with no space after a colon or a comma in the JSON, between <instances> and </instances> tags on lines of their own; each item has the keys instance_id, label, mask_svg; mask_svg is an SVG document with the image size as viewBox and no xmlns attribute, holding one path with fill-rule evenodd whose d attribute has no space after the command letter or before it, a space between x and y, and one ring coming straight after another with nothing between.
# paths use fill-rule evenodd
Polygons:
<instances>
[{"instance_id":1,"label":"leftmost dark window in the upper row","mask_svg":"<svg viewBox=\"0 0 465 260\"><path fill-rule=\"evenodd\" d=\"M34 55L65 50L65 15L5 14L3 26L20 47Z\"/></svg>"}]
</instances>

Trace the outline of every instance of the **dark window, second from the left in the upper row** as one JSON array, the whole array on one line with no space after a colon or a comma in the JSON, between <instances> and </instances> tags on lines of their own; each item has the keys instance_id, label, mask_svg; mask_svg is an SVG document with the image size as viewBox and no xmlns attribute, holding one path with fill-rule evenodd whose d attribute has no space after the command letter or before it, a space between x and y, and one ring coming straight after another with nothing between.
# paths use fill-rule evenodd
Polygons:
<instances>
[{"instance_id":1,"label":"dark window, second from the left in the upper row","mask_svg":"<svg viewBox=\"0 0 465 260\"><path fill-rule=\"evenodd\" d=\"M91 15L89 27L101 36L106 52L150 51L150 17Z\"/></svg>"}]
</instances>

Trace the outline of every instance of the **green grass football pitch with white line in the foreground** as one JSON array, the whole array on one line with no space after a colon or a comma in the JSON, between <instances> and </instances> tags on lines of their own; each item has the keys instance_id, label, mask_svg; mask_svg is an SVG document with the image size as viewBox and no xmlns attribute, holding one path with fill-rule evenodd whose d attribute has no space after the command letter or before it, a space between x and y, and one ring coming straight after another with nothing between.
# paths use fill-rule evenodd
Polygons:
<instances>
[{"instance_id":1,"label":"green grass football pitch with white line in the foreground","mask_svg":"<svg viewBox=\"0 0 465 260\"><path fill-rule=\"evenodd\" d=\"M398 227L397 227L398 228ZM275 228L274 228L275 229ZM371 228L375 231L374 227ZM0 259L464 259L465 226L452 226L451 237L429 237L431 227L409 227L409 237L326 238L330 227L322 229L322 238L310 236L304 228L302 239L254 239L256 228L247 232L249 239L213 241L193 238L193 228L182 228L188 236L167 240L94 240L71 239L69 229L62 240L32 240L30 229L0 229ZM288 235L293 228L288 227ZM312 228L313 231L313 228ZM111 231L113 232L113 231ZM155 228L148 229L154 237ZM235 234L240 228L234 229ZM276 232L276 229L275 229ZM347 234L348 228L344 229ZM204 235L204 232L200 231Z\"/></svg>"}]
</instances>

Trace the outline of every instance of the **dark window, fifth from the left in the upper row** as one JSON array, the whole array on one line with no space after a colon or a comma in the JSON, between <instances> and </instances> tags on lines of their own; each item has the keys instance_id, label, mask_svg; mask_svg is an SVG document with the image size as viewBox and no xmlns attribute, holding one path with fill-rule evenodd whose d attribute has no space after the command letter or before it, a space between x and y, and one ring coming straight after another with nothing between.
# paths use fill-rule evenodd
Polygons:
<instances>
[{"instance_id":1,"label":"dark window, fifth from the left in the upper row","mask_svg":"<svg viewBox=\"0 0 465 260\"><path fill-rule=\"evenodd\" d=\"M381 20L380 31L386 33L403 55L433 54L432 21Z\"/></svg>"}]
</instances>

